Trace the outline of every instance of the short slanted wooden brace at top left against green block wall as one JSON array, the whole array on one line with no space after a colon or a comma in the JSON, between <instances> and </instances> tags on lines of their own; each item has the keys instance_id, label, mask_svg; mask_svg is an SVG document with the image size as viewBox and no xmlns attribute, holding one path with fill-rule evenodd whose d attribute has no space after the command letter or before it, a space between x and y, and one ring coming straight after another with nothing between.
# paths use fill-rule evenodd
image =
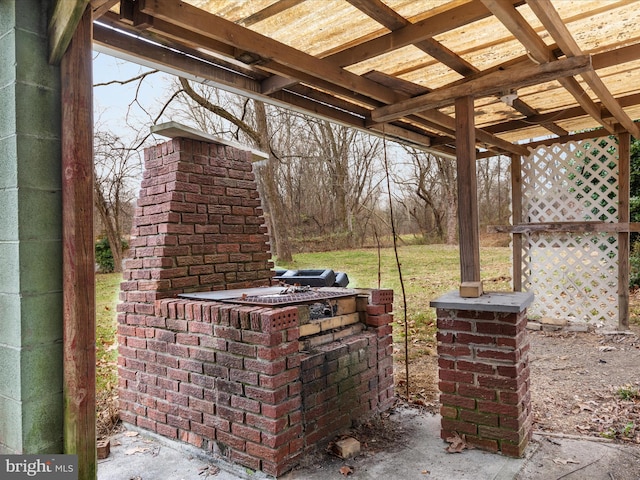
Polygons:
<instances>
[{"instance_id":1,"label":"short slanted wooden brace at top left against green block wall","mask_svg":"<svg viewBox=\"0 0 640 480\"><path fill-rule=\"evenodd\" d=\"M89 0L57 0L49 20L49 63L58 65Z\"/></svg>"}]
</instances>

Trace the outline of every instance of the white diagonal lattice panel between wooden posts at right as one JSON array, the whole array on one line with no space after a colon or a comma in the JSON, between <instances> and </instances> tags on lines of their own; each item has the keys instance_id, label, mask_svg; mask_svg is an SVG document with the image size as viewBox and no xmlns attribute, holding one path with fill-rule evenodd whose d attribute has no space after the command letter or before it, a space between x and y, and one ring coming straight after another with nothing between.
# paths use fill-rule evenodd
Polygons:
<instances>
[{"instance_id":1,"label":"white diagonal lattice panel between wooden posts at right","mask_svg":"<svg viewBox=\"0 0 640 480\"><path fill-rule=\"evenodd\" d=\"M540 147L523 159L527 223L617 222L618 149L608 138ZM523 235L531 316L615 324L618 242L608 233Z\"/></svg>"}]
</instances>

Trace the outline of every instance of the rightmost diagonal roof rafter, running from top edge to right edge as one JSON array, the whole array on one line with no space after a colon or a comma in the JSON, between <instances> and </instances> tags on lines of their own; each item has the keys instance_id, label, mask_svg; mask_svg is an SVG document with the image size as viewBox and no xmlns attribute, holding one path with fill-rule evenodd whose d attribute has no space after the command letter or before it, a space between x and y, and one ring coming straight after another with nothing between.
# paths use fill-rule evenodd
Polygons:
<instances>
[{"instance_id":1,"label":"rightmost diagonal roof rafter, running from top edge to right edge","mask_svg":"<svg viewBox=\"0 0 640 480\"><path fill-rule=\"evenodd\" d=\"M540 19L544 27L556 40L558 46L568 57L582 55L582 49L578 46L569 29L564 24L560 15L549 0L527 0L531 10ZM602 104L609 110L615 119L634 137L640 137L638 125L629 118L620 104L613 98L609 89L602 82L602 79L593 71L585 71L582 78L589 85L591 90L598 96Z\"/></svg>"}]
</instances>

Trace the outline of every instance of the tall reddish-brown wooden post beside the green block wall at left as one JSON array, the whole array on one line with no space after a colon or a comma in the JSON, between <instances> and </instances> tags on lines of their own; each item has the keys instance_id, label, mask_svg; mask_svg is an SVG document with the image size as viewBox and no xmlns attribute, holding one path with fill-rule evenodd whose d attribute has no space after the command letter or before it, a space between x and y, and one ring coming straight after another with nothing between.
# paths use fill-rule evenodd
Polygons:
<instances>
[{"instance_id":1,"label":"tall reddish-brown wooden post beside the green block wall at left","mask_svg":"<svg viewBox=\"0 0 640 480\"><path fill-rule=\"evenodd\" d=\"M64 449L78 455L79 480L97 475L91 42L87 8L60 63Z\"/></svg>"}]
</instances>

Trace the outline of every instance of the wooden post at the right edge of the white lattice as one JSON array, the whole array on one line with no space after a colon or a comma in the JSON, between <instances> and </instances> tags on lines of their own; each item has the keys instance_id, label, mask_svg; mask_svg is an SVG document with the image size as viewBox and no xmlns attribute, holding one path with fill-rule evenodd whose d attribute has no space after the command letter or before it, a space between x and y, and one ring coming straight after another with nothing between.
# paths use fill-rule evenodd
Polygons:
<instances>
[{"instance_id":1,"label":"wooden post at the right edge of the white lattice","mask_svg":"<svg viewBox=\"0 0 640 480\"><path fill-rule=\"evenodd\" d=\"M628 223L631 135L618 135L618 222ZM618 233L618 328L629 329L629 230Z\"/></svg>"}]
</instances>

